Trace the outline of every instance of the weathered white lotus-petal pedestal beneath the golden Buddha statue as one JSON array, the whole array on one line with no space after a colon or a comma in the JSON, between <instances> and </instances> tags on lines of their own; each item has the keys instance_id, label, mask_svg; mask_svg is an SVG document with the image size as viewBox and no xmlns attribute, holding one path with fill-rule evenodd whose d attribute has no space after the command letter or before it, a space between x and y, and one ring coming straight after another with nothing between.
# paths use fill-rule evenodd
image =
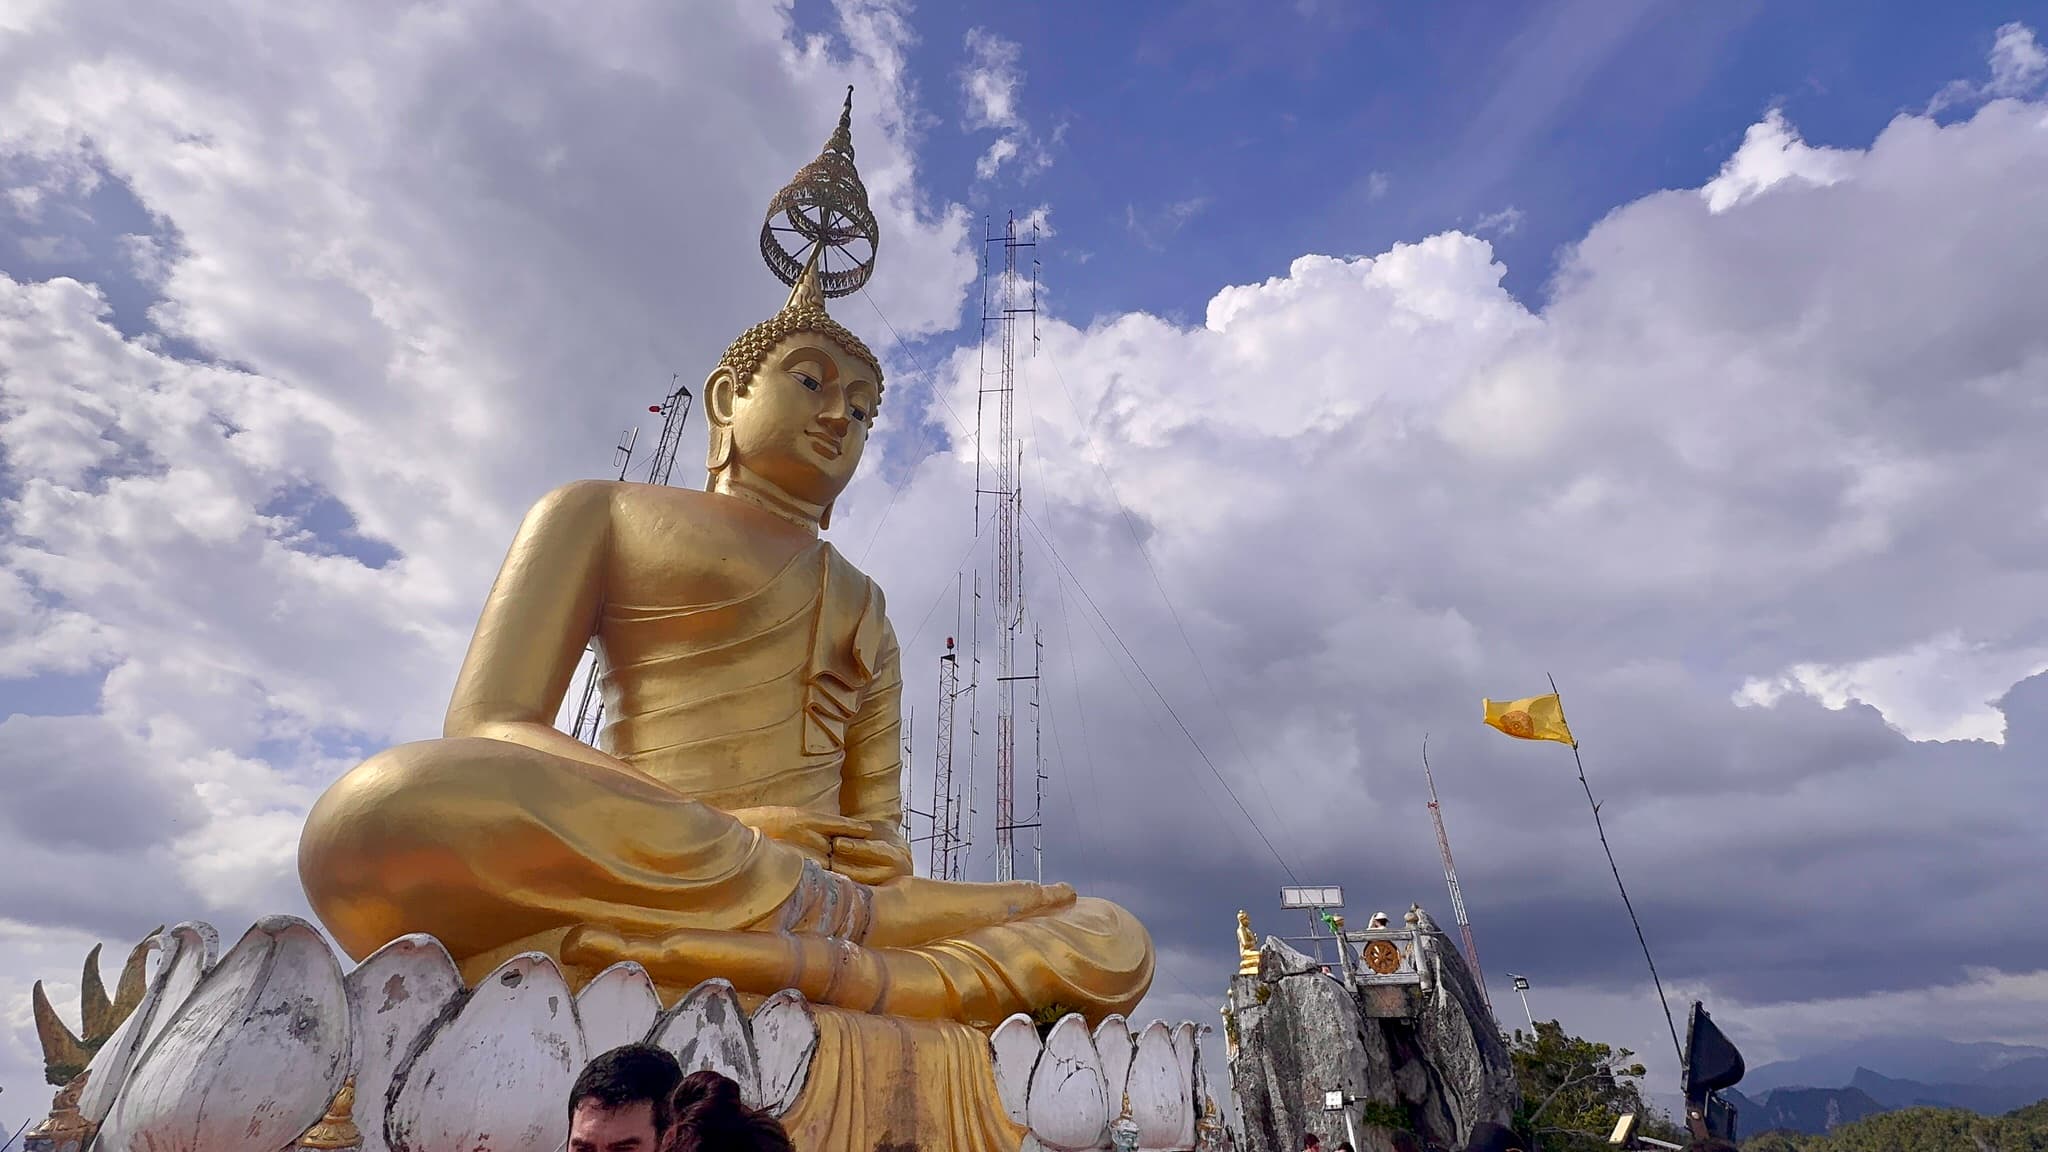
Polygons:
<instances>
[{"instance_id":1,"label":"weathered white lotus-petal pedestal beneath the golden Buddha statue","mask_svg":"<svg viewBox=\"0 0 2048 1152\"><path fill-rule=\"evenodd\" d=\"M711 980L664 1006L635 963L571 992L547 955L526 953L463 986L438 941L401 937L344 976L326 939L293 916L260 920L219 959L213 929L199 922L152 943L141 1004L74 1082L78 1119L98 1129L94 1150L557 1152L584 1064L647 1039L684 1070L731 1076L750 1105L782 1117L797 1148L870 1152L838 1138L850 1132L844 1101L877 1091L907 1101L918 1084L897 1080L936 1060L930 1047L913 1052L928 1043L915 1027L813 1006L797 992L750 1013L731 984ZM901 1062L879 1064L872 1043L854 1039L891 1029ZM877 1146L1108 1150L1126 1101L1118 1127L1135 1123L1143 1152L1196 1146L1208 1084L1192 1023L1133 1033L1110 1017L1090 1031L1069 1015L1040 1039L1012 1017L985 1041L969 1029L948 1035L948 1072L993 1080L1001 1132L948 1142L930 1132L934 1117L920 1117L926 1132ZM922 1101L932 1107L930 1093Z\"/></svg>"}]
</instances>

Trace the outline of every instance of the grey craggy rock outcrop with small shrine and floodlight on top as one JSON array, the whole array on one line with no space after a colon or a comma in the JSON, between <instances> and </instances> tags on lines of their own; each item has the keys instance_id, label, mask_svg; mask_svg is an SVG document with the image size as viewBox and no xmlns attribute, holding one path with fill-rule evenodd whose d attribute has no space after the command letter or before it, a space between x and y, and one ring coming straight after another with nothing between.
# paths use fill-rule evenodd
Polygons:
<instances>
[{"instance_id":1,"label":"grey craggy rock outcrop with small shrine and floodlight on top","mask_svg":"<svg viewBox=\"0 0 2048 1152\"><path fill-rule=\"evenodd\" d=\"M1243 1152L1296 1152L1307 1132L1358 1152L1397 1152L1397 1132L1462 1148L1475 1125L1513 1115L1513 1064L1456 945L1421 908L1403 929L1360 935L1386 943L1386 972L1362 957L1352 972L1323 965L1268 939L1257 976L1231 982ZM1327 1109L1329 1093L1343 1095L1341 1111Z\"/></svg>"}]
</instances>

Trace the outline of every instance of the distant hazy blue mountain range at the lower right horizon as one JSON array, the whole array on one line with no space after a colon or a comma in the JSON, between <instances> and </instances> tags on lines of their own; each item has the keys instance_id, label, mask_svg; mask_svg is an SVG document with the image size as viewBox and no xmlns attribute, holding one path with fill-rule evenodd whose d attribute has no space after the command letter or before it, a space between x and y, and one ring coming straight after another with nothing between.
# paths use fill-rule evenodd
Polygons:
<instances>
[{"instance_id":1,"label":"distant hazy blue mountain range at the lower right horizon","mask_svg":"<svg viewBox=\"0 0 2048 1152\"><path fill-rule=\"evenodd\" d=\"M1884 1068L1874 1072L1872 1068ZM2048 1047L1892 1037L1780 1060L1726 1093L1741 1132L1821 1134L1909 1107L2003 1115L2048 1099Z\"/></svg>"}]
</instances>

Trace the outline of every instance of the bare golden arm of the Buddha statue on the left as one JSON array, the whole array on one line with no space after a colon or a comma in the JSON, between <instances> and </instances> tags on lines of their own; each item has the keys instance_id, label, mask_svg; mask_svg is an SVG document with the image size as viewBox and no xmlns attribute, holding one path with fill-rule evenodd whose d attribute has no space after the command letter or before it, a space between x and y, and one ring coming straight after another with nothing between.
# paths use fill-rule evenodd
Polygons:
<instances>
[{"instance_id":1,"label":"bare golden arm of the Buddha statue on the left","mask_svg":"<svg viewBox=\"0 0 2048 1152\"><path fill-rule=\"evenodd\" d=\"M526 512L455 681L446 736L633 771L555 728L604 599L610 525L610 486L592 480L565 484Z\"/></svg>"}]
</instances>

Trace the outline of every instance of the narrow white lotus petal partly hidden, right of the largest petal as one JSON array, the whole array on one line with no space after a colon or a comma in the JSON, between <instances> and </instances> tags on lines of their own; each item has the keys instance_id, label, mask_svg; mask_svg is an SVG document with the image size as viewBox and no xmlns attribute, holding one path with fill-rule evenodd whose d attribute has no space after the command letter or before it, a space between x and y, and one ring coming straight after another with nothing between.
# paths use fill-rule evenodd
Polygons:
<instances>
[{"instance_id":1,"label":"narrow white lotus petal partly hidden, right of the largest petal","mask_svg":"<svg viewBox=\"0 0 2048 1152\"><path fill-rule=\"evenodd\" d=\"M440 941L414 933L373 951L342 984L354 1029L356 1132L362 1134L362 1152L389 1152L383 1119L391 1074L414 1041L463 994L463 976Z\"/></svg>"}]
</instances>

